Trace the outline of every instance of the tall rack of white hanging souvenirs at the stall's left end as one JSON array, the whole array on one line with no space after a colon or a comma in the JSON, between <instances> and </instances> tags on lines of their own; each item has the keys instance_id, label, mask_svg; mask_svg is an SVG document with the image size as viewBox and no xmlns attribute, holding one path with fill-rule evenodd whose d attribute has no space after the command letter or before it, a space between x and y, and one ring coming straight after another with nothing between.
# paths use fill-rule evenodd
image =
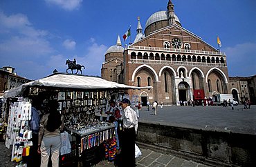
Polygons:
<instances>
[{"instance_id":1,"label":"tall rack of white hanging souvenirs at the stall's left end","mask_svg":"<svg viewBox=\"0 0 256 167\"><path fill-rule=\"evenodd\" d=\"M33 146L31 120L31 104L23 97L12 99L9 108L8 127L6 130L6 147L12 145L11 161L20 162L22 157L30 155Z\"/></svg>"}]
</instances>

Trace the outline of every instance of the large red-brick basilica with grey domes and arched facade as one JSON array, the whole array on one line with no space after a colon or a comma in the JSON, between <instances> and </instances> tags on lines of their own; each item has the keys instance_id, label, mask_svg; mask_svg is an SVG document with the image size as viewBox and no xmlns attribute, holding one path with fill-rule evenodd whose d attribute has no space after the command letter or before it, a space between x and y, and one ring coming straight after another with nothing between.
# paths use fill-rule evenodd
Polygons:
<instances>
[{"instance_id":1,"label":"large red-brick basilica with grey domes and arched facade","mask_svg":"<svg viewBox=\"0 0 256 167\"><path fill-rule=\"evenodd\" d=\"M171 0L167 10L147 19L144 32L138 18L136 38L129 46L123 48L118 36L116 45L104 55L101 77L130 86L152 86L129 90L129 95L138 95L143 104L163 101L179 105L180 101L201 101L234 92L225 53L183 28Z\"/></svg>"}]
</instances>

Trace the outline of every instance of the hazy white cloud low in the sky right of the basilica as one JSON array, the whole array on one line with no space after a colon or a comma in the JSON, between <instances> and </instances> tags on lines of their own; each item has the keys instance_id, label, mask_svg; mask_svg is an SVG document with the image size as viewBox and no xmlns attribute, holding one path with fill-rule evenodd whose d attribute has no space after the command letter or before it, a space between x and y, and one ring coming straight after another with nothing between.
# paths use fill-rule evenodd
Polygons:
<instances>
[{"instance_id":1,"label":"hazy white cloud low in the sky right of the basilica","mask_svg":"<svg viewBox=\"0 0 256 167\"><path fill-rule=\"evenodd\" d=\"M223 48L228 61L229 76L250 76L256 74L256 43L241 43Z\"/></svg>"}]
</instances>

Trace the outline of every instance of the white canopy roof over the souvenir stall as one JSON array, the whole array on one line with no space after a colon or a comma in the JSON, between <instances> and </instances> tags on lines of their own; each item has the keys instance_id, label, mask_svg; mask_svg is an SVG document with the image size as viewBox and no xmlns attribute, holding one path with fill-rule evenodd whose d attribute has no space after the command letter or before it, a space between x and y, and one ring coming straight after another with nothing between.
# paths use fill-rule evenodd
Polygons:
<instances>
[{"instance_id":1,"label":"white canopy roof over the souvenir stall","mask_svg":"<svg viewBox=\"0 0 256 167\"><path fill-rule=\"evenodd\" d=\"M24 83L23 85L8 90L5 92L4 97L16 97L18 95L23 95L26 88L31 86L46 86L53 88L77 88L84 90L92 89L144 89L152 88L152 86L146 87L136 87L136 86L127 86L125 84L120 84L112 81L107 81L100 77L87 77L84 75L71 75L66 73L57 72L48 77L37 79L35 81L30 81Z\"/></svg>"}]
</instances>

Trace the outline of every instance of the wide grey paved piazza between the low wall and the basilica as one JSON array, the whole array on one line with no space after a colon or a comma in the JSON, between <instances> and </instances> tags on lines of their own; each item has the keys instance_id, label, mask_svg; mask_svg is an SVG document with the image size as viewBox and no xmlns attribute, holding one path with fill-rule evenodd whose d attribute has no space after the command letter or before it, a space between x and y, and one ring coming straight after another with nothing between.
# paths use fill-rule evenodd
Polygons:
<instances>
[{"instance_id":1,"label":"wide grey paved piazza between the low wall and the basilica","mask_svg":"<svg viewBox=\"0 0 256 167\"><path fill-rule=\"evenodd\" d=\"M139 114L139 122L256 135L256 106L158 106L157 115L143 107Z\"/></svg>"}]
</instances>

